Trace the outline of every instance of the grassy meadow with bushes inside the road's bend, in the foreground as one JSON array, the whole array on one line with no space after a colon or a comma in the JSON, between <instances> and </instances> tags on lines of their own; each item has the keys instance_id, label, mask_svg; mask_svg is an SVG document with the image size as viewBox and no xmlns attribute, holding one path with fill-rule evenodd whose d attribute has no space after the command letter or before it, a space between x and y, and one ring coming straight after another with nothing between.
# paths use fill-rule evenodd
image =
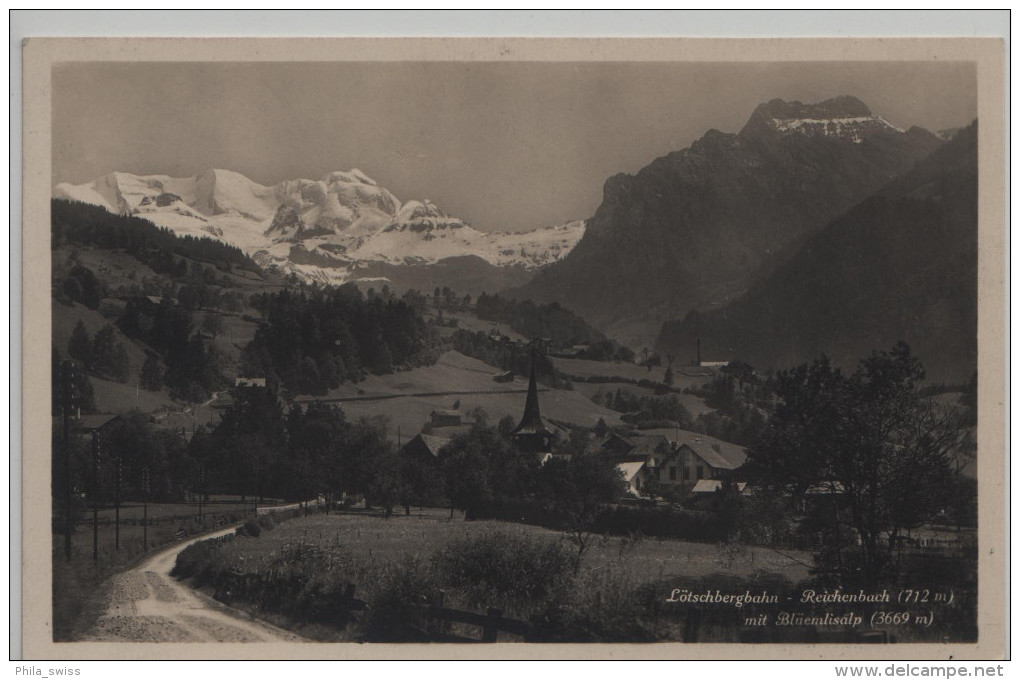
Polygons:
<instances>
[{"instance_id":1,"label":"grassy meadow with bushes inside the road's bend, in the foreground","mask_svg":"<svg viewBox=\"0 0 1020 680\"><path fill-rule=\"evenodd\" d=\"M495 521L448 519L425 511L389 520L355 514L285 522L258 537L231 536L185 551L176 575L192 577L228 604L325 640L422 639L415 606L435 601L504 615L533 625L536 640L680 639L677 611L662 605L673 587L708 579L793 582L796 560L763 548L676 540L599 539L581 569L562 533ZM369 603L344 608L344 588Z\"/></svg>"}]
</instances>

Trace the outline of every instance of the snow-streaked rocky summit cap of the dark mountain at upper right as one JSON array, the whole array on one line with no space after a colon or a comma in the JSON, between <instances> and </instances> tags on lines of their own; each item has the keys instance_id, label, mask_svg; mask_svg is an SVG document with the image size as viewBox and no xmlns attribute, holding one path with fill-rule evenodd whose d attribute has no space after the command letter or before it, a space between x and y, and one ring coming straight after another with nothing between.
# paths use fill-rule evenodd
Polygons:
<instances>
[{"instance_id":1,"label":"snow-streaked rocky summit cap of the dark mountain at upper right","mask_svg":"<svg viewBox=\"0 0 1020 680\"><path fill-rule=\"evenodd\" d=\"M760 104L751 114L742 137L804 135L834 137L860 144L875 132L903 130L875 115L857 97L843 95L816 104L773 99Z\"/></svg>"}]
</instances>

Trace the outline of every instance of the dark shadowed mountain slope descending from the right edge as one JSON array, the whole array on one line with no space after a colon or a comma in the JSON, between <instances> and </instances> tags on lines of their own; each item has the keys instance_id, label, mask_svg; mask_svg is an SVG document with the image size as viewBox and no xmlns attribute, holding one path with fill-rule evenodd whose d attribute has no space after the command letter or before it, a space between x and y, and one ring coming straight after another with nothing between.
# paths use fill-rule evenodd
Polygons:
<instances>
[{"instance_id":1,"label":"dark shadowed mountain slope descending from the right edge","mask_svg":"<svg viewBox=\"0 0 1020 680\"><path fill-rule=\"evenodd\" d=\"M810 238L746 296L664 324L660 352L783 367L851 365L908 342L930 377L966 380L977 352L977 125Z\"/></svg>"}]
</instances>

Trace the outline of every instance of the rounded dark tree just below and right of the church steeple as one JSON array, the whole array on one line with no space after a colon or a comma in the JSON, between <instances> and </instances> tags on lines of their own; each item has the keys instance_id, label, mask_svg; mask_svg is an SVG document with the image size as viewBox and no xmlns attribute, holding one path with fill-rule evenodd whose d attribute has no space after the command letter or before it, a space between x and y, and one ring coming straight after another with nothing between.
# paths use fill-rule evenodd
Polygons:
<instances>
[{"instance_id":1,"label":"rounded dark tree just below and right of the church steeple","mask_svg":"<svg viewBox=\"0 0 1020 680\"><path fill-rule=\"evenodd\" d=\"M589 548L599 515L623 493L623 474L597 453L580 453L569 461L553 458L542 466L539 489L545 502L564 519L577 545L574 573Z\"/></svg>"}]
</instances>

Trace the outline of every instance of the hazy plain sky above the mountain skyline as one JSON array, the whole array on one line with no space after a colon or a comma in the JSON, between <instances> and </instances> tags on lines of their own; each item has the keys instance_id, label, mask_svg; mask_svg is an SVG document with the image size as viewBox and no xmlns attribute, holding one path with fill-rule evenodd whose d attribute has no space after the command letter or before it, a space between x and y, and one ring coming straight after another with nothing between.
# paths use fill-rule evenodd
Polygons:
<instances>
[{"instance_id":1,"label":"hazy plain sky above the mountain skyline","mask_svg":"<svg viewBox=\"0 0 1020 680\"><path fill-rule=\"evenodd\" d=\"M977 114L970 63L81 63L54 69L53 181L361 168L480 229L590 217L606 178L774 98L854 95L901 127Z\"/></svg>"}]
</instances>

